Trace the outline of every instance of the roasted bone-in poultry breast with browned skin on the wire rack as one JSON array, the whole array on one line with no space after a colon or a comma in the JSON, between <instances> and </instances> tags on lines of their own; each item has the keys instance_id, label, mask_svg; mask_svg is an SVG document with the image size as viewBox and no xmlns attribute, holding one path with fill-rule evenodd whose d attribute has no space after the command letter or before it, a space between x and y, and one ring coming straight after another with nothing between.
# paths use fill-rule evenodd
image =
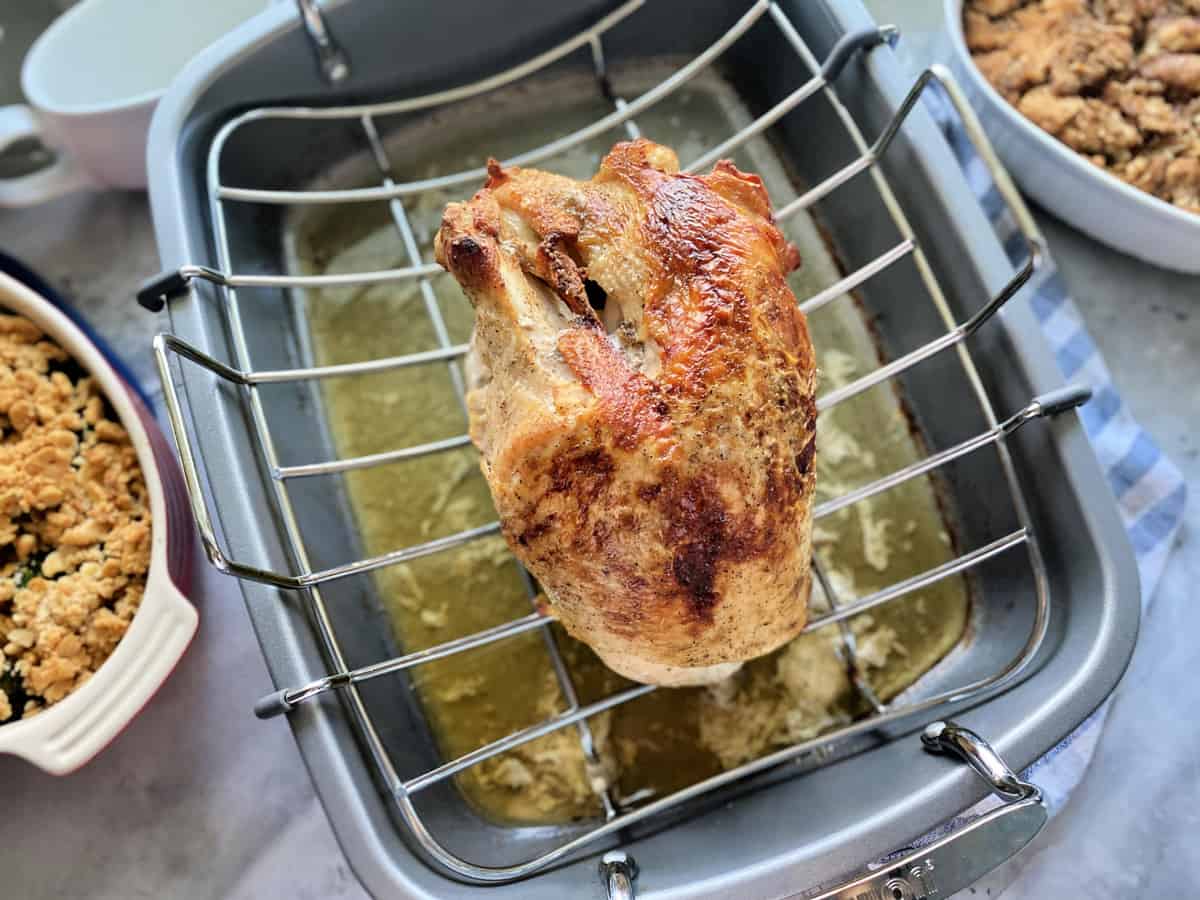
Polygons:
<instances>
[{"instance_id":1,"label":"roasted bone-in poultry breast with browned skin on the wire rack","mask_svg":"<svg viewBox=\"0 0 1200 900\"><path fill-rule=\"evenodd\" d=\"M504 534L566 630L654 684L791 640L811 587L799 257L756 175L678 168L648 140L590 181L492 163L436 245L476 310L472 439Z\"/></svg>"}]
</instances>

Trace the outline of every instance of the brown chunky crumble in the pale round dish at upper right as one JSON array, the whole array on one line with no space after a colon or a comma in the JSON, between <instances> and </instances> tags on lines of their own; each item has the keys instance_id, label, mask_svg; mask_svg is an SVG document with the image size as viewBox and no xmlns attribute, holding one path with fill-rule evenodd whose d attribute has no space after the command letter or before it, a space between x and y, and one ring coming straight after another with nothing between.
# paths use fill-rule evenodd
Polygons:
<instances>
[{"instance_id":1,"label":"brown chunky crumble in the pale round dish at upper right","mask_svg":"<svg viewBox=\"0 0 1200 900\"><path fill-rule=\"evenodd\" d=\"M1200 0L967 0L964 29L1034 125L1200 212Z\"/></svg>"}]
</instances>

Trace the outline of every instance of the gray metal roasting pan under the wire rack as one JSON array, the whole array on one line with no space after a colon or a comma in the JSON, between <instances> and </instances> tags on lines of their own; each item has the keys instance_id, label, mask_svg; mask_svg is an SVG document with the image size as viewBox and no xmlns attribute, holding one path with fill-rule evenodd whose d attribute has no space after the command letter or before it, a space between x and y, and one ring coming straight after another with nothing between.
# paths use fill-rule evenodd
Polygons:
<instances>
[{"instance_id":1,"label":"gray metal roasting pan under the wire rack","mask_svg":"<svg viewBox=\"0 0 1200 900\"><path fill-rule=\"evenodd\" d=\"M750 5L701 0L688 4L686 14L680 14L677 4L647 0L605 32L605 52L614 66L647 55L694 56L733 26ZM164 269L228 269L229 260L220 258L214 240L206 166L216 134L236 115L262 106L330 107L416 96L478 80L562 43L614 6L528 0L326 2L322 5L324 23L346 53L348 73L335 71L340 60L331 53L325 54L324 68L314 59L310 32L319 28L319 20L310 17L306 31L292 5L270 7L193 60L155 115L148 162ZM780 0L778 7L818 60L827 59L844 35L875 29L856 0ZM565 58L556 65L566 67L572 59L578 62ZM728 48L722 65L755 110L768 108L809 77L766 18ZM330 82L330 73L344 77ZM912 79L901 72L890 49L878 46L853 54L833 86L870 139L884 131ZM852 148L839 137L842 133L834 107L816 97L805 103L803 114L792 112L775 124L772 140L800 179L811 184L852 157ZM354 152L361 152L361 145L336 127L318 139L295 122L269 121L230 140L221 178L234 185L302 185ZM964 322L1002 290L1013 268L948 146L919 106L904 119L878 169L905 210L955 322ZM836 202L832 197L822 202L818 217L844 260L862 264L895 239L876 188L863 176L839 187ZM239 206L228 222L234 266L250 275L281 271L282 228L281 206ZM196 278L182 287L168 306L170 330L217 360L234 360L221 286ZM1026 407L1031 397L1062 388L1028 307L1028 290L962 344L978 371L978 386L1001 419ZM288 290L258 287L245 294L240 308L254 367L304 365L298 349L302 342L289 324ZM912 265L881 271L859 287L858 295L892 355L946 330L924 300ZM270 473L254 444L245 394L197 366L179 365L169 378L190 412L188 439L203 460L197 485L205 508L212 510L212 528L224 553L258 569L295 571ZM938 354L900 378L931 448L953 445L990 427L974 386L954 352ZM313 424L319 396L312 385L271 385L269 396L271 427L280 442L308 448L307 455L314 458L332 458L329 434L323 425ZM371 758L374 751L362 737L362 710L378 730L388 764L401 776L427 769L437 758L404 678L380 678L353 692L299 706L289 715L305 764L355 872L379 896L468 898L487 892L494 898L529 900L600 898L606 888L596 878L596 858L619 847L640 864L636 887L642 898L792 896L859 870L980 799L986 793L984 781L966 766L924 752L917 739L920 728L935 718L953 715L988 738L1020 770L1109 695L1133 650L1139 616L1132 552L1078 416L1068 412L1022 428L1007 437L1004 448L1037 539L1044 578L1039 584L1024 557L1000 556L982 566L974 578L984 616L958 665L967 678L1002 666L1030 632L1032 598L1040 588L1049 596L1049 630L1018 683L998 694L973 696L968 703L862 730L834 746L815 746L814 752L608 834L529 877L484 886L461 874L451 877L431 859L427 844L420 835L414 838L385 790L379 766ZM956 536L966 547L1010 530L1020 517L1007 499L1000 454L985 456L965 457L944 473L955 502ZM341 494L317 485L320 479L311 481L313 486L306 481L295 504L323 529L313 566L362 556L347 526ZM277 686L302 685L331 670L329 648L318 642L304 592L248 580L232 580L230 588L234 583L240 583ZM348 665L395 653L376 618L370 576L343 578L323 592ZM421 802L430 830L455 853L484 865L503 865L514 854L517 859L536 856L580 833L574 826L487 823L462 803L450 782ZM610 883L608 890L623 895L624 886ZM900 893L894 894L863 890L838 896L919 895L907 887L895 888Z\"/></svg>"}]
</instances>

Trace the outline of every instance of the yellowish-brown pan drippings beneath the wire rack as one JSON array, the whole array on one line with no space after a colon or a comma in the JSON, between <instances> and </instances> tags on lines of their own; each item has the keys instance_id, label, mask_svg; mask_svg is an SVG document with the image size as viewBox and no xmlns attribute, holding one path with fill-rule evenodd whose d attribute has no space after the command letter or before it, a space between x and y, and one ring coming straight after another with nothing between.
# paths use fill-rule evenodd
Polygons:
<instances>
[{"instance_id":1,"label":"yellowish-brown pan drippings beneath the wire rack","mask_svg":"<svg viewBox=\"0 0 1200 900\"><path fill-rule=\"evenodd\" d=\"M653 74L653 73L649 73ZM643 76L646 77L646 76ZM637 86L630 94L638 92ZM608 112L587 91L566 110L548 116L544 91L518 104L526 116L485 128L486 116L468 116L469 134L431 116L420 139L391 143L398 178L424 178L482 163L476 149L503 157L551 139ZM554 92L556 97L569 95ZM539 104L542 108L539 108ZM512 116L517 113L512 112ZM745 113L715 78L640 116L647 137L695 158L731 132ZM446 137L450 134L451 137ZM601 154L622 133L604 136L546 163L588 178ZM409 138L413 138L409 134ZM404 160L404 148L420 148ZM436 161L436 162L432 162ZM770 150L757 142L736 161L764 175L775 197L790 196ZM431 259L433 230L444 204L457 192L426 193L407 214ZM840 272L815 224L788 222L788 238L804 258L793 276L797 296L815 294ZM296 269L344 272L408 264L388 210L352 205L319 208L295 223ZM472 311L449 276L432 280L450 340L466 341ZM314 361L352 362L437 347L426 299L412 282L310 292L305 298ZM841 298L810 317L821 366L821 391L878 365L878 354L857 305ZM325 412L340 456L380 452L466 431L466 419L444 362L378 374L328 379ZM822 415L817 434L817 499L838 496L893 472L923 454L889 385ZM374 554L493 521L487 485L472 448L348 473L350 505L367 553ZM841 601L850 601L929 569L953 556L952 541L928 479L911 481L817 523L815 544ZM395 640L415 650L527 614L522 575L499 536L396 565L376 575ZM815 612L827 608L814 588ZM866 677L884 700L911 686L965 634L970 602L961 578L851 620ZM554 640L572 673L581 702L626 686L583 644L557 626ZM749 662L728 682L707 689L659 690L610 713L590 727L599 764L583 758L574 728L562 728L476 766L457 779L467 799L486 817L508 823L547 824L595 816L593 785L602 781L618 799L661 796L781 746L815 737L866 713L838 655L836 626L803 635L774 654ZM416 689L445 758L565 709L542 635L526 634L413 671Z\"/></svg>"}]
</instances>

